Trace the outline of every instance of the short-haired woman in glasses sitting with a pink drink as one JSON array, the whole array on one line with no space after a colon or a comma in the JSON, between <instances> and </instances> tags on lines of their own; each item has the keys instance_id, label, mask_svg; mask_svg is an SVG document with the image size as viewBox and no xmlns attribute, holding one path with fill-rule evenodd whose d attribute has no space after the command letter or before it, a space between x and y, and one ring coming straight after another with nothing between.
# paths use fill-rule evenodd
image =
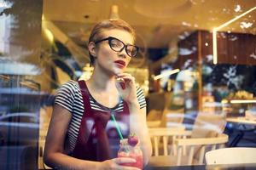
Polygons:
<instances>
[{"instance_id":1,"label":"short-haired woman in glasses sitting with a pink drink","mask_svg":"<svg viewBox=\"0 0 256 170\"><path fill-rule=\"evenodd\" d=\"M124 72L137 55L134 43L135 32L123 20L103 20L93 28L88 44L92 76L86 82L65 83L55 99L44 150L44 162L49 167L137 169L120 165L134 159L113 158L109 153L104 132L113 113L128 115L130 132L137 134L143 164L147 164L152 149L145 99L135 78Z\"/></svg>"}]
</instances>

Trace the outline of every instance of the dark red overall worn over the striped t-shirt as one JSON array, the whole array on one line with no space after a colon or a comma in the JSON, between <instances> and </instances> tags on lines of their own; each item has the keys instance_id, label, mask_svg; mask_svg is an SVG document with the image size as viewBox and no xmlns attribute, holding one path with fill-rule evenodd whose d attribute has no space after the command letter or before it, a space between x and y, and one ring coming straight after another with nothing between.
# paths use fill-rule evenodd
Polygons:
<instances>
[{"instance_id":1,"label":"dark red overall worn over the striped t-shirt","mask_svg":"<svg viewBox=\"0 0 256 170\"><path fill-rule=\"evenodd\" d=\"M105 161L117 157L117 152L109 147L106 126L111 117L111 111L96 111L90 107L90 93L84 81L79 81L83 96L84 114L79 127L79 135L73 150L73 157L89 161ZM124 110L118 116L129 114L129 109L124 101ZM129 121L128 121L129 123ZM127 124L129 128L129 124ZM116 145L119 145L117 142Z\"/></svg>"}]
</instances>

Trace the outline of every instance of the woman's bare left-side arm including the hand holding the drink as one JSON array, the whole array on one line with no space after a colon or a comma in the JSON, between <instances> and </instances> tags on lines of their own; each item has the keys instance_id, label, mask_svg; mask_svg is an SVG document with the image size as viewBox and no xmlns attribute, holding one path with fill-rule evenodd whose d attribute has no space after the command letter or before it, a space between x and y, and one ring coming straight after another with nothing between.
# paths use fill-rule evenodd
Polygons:
<instances>
[{"instance_id":1,"label":"woman's bare left-side arm including the hand holding the drink","mask_svg":"<svg viewBox=\"0 0 256 170\"><path fill-rule=\"evenodd\" d=\"M49 123L45 147L44 163L57 169L137 169L119 166L120 163L134 162L131 158L114 158L107 161L84 161L67 156L64 141L72 114L61 105L55 105Z\"/></svg>"}]
</instances>

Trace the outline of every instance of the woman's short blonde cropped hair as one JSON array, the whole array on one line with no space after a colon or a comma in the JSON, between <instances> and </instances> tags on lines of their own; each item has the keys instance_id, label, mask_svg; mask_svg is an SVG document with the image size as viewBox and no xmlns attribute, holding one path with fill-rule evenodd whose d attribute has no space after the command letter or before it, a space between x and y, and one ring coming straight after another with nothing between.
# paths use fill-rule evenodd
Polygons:
<instances>
[{"instance_id":1,"label":"woman's short blonde cropped hair","mask_svg":"<svg viewBox=\"0 0 256 170\"><path fill-rule=\"evenodd\" d=\"M136 33L134 29L127 23L125 20L120 19L108 19L108 20L102 20L101 22L97 23L92 30L90 31L90 37L89 42L96 42L102 38L102 31L106 30L112 30L112 29L119 29L124 30L129 33L131 33L131 36L133 37L133 41L136 40ZM90 65L94 64L94 57L90 54Z\"/></svg>"}]
</instances>

